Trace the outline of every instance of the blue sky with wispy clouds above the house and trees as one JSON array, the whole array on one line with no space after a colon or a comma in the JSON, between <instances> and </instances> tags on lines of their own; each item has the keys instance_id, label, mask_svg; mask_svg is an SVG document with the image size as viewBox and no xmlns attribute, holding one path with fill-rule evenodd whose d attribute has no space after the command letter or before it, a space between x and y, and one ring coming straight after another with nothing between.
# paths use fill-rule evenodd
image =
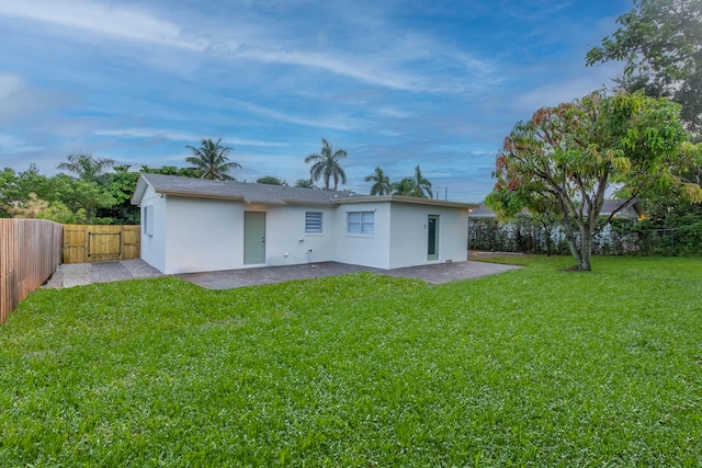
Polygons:
<instances>
[{"instance_id":1,"label":"blue sky with wispy clouds above the house and trees","mask_svg":"<svg viewBox=\"0 0 702 468\"><path fill-rule=\"evenodd\" d=\"M347 189L419 164L479 202L514 124L611 87L586 68L631 0L0 0L0 167L46 175L71 152L188 165L223 138L253 181L307 178L321 138Z\"/></svg>"}]
</instances>

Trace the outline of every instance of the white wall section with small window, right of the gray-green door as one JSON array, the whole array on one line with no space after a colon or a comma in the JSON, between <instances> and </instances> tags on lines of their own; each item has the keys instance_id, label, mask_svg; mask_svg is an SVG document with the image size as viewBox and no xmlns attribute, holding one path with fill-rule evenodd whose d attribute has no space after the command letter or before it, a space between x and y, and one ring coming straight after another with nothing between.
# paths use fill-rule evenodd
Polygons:
<instances>
[{"instance_id":1,"label":"white wall section with small window, right of the gray-green door","mask_svg":"<svg viewBox=\"0 0 702 468\"><path fill-rule=\"evenodd\" d=\"M328 262L335 258L335 209L320 206L274 206L265 216L267 265ZM305 214L321 213L321 233L305 233ZM308 253L308 251L312 252Z\"/></svg>"}]
</instances>

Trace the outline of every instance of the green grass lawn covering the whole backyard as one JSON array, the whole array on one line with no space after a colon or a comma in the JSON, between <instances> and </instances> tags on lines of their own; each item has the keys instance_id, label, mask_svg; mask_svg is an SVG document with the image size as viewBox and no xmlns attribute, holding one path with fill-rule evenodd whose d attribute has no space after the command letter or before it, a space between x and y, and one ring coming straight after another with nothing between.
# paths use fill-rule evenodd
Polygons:
<instances>
[{"instance_id":1,"label":"green grass lawn covering the whole backyard","mask_svg":"<svg viewBox=\"0 0 702 468\"><path fill-rule=\"evenodd\" d=\"M702 466L702 261L33 293L0 466Z\"/></svg>"}]
</instances>

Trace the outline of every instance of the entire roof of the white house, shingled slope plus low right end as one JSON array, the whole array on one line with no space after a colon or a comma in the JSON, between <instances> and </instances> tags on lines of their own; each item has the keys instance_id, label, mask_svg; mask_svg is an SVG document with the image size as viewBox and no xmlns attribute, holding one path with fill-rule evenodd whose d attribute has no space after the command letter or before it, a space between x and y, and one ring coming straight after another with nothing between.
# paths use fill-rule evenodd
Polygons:
<instances>
[{"instance_id":1,"label":"entire roof of the white house, shingled slope plus low right end","mask_svg":"<svg viewBox=\"0 0 702 468\"><path fill-rule=\"evenodd\" d=\"M138 205L150 185L157 194L188 196L199 198L233 199L247 204L264 205L338 205L341 203L400 202L414 204L431 204L471 208L472 204L442 202L438 199L416 198L398 195L356 196L349 192L322 191L281 185L259 184L253 182L211 181L206 179L181 178L141 173L137 182L132 204Z\"/></svg>"}]
</instances>

